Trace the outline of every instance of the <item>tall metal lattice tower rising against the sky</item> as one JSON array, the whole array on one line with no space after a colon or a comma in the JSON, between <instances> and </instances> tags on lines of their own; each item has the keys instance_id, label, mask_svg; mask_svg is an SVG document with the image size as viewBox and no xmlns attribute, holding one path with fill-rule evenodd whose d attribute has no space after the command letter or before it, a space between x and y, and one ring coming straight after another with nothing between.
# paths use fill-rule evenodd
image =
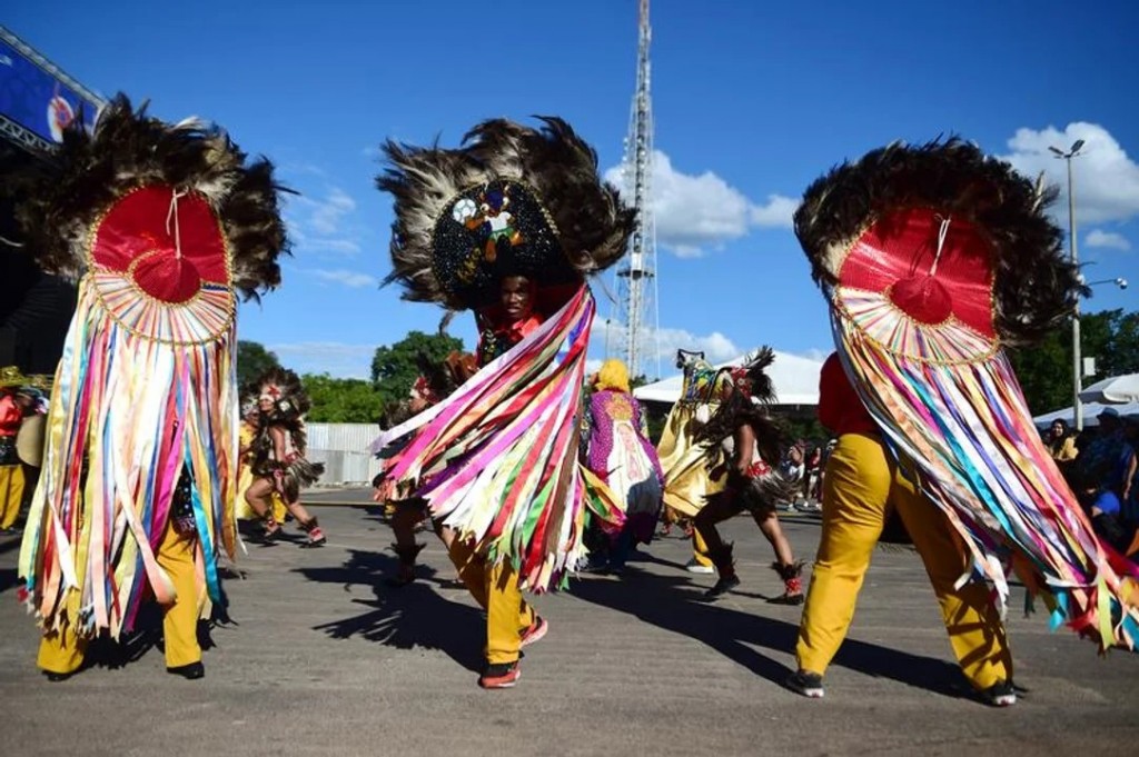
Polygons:
<instances>
[{"instance_id":1,"label":"tall metal lattice tower rising against the sky","mask_svg":"<svg viewBox=\"0 0 1139 757\"><path fill-rule=\"evenodd\" d=\"M661 355L656 348L659 310L656 289L656 223L653 217L653 101L649 97L648 0L640 0L640 34L637 52L637 92L633 96L621 166L624 189L631 192L637 208L637 227L629 241L629 254L617 269L617 303L609 319L606 352L620 355L629 376L661 376Z\"/></svg>"}]
</instances>

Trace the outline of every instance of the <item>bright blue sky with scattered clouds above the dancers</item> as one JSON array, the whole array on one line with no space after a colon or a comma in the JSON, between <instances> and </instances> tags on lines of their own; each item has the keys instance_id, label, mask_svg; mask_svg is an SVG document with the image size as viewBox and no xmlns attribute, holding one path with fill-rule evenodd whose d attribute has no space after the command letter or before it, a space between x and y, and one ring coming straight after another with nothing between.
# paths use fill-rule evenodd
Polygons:
<instances>
[{"instance_id":1,"label":"bright blue sky with scattered clouds above the dancers","mask_svg":"<svg viewBox=\"0 0 1139 757\"><path fill-rule=\"evenodd\" d=\"M276 162L302 192L286 209L294 255L281 289L243 306L239 329L297 370L367 375L376 346L439 321L437 308L377 289L391 204L372 176L385 138L453 145L483 118L556 114L596 146L603 167L621 161L636 0L186 8L21 2L0 23L91 89L149 98L163 118L213 120ZM826 307L789 228L797 198L835 163L949 133L1060 182L1063 162L1047 147L1085 139L1075 163L1081 258L1090 280L1132 282L1097 286L1085 307L1133 308L1136 28L1139 5L1128 0L657 0L662 353L826 352ZM1057 212L1067 228L1063 201ZM612 275L606 287L615 291ZM469 319L451 330L472 344ZM604 356L604 339L595 345Z\"/></svg>"}]
</instances>

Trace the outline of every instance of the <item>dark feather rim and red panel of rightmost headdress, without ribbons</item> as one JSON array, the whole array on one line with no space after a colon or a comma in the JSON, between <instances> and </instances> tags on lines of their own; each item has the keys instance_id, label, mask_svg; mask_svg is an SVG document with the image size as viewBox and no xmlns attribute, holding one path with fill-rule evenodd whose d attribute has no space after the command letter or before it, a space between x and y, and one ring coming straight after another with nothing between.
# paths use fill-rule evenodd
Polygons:
<instances>
[{"instance_id":1,"label":"dark feather rim and red panel of rightmost headdress, without ribbons","mask_svg":"<svg viewBox=\"0 0 1139 757\"><path fill-rule=\"evenodd\" d=\"M959 139L895 142L811 184L795 234L828 289L888 286L888 301L919 323L953 315L1005 345L1026 344L1084 293L1043 213L1055 197Z\"/></svg>"}]
</instances>

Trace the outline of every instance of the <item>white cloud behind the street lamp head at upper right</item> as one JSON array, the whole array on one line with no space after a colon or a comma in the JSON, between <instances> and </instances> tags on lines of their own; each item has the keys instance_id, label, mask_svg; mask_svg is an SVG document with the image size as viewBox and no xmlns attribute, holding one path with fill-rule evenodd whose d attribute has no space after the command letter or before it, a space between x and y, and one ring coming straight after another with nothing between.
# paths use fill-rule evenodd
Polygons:
<instances>
[{"instance_id":1,"label":"white cloud behind the street lamp head at upper right","mask_svg":"<svg viewBox=\"0 0 1139 757\"><path fill-rule=\"evenodd\" d=\"M1052 213L1066 223L1067 166L1048 148L1067 150L1077 139L1084 141L1083 149L1072 158L1077 223L1125 221L1139 215L1139 165L1098 124L1075 122L1064 131L1054 126L1040 131L1018 129L1008 140L1013 153L1001 157L1029 176L1043 172L1050 183L1059 187L1064 201L1056 204Z\"/></svg>"}]
</instances>

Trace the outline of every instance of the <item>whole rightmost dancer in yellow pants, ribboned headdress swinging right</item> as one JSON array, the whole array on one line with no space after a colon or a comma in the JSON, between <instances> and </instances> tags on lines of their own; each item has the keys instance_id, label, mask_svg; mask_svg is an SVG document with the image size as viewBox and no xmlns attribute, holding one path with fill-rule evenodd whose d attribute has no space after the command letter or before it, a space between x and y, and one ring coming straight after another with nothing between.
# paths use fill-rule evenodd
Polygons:
<instances>
[{"instance_id":1,"label":"whole rightmost dancer in yellow pants, ribboned headdress swinging right","mask_svg":"<svg viewBox=\"0 0 1139 757\"><path fill-rule=\"evenodd\" d=\"M822 696L888 504L985 701L1016 701L983 583L1003 604L1006 560L1054 624L1103 648L1134 644L1137 569L1097 540L1002 351L1047 334L1081 290L1043 212L1049 199L959 140L895 143L808 189L795 232L831 307L838 351L823 368L820 414L839 439L793 690Z\"/></svg>"}]
</instances>

